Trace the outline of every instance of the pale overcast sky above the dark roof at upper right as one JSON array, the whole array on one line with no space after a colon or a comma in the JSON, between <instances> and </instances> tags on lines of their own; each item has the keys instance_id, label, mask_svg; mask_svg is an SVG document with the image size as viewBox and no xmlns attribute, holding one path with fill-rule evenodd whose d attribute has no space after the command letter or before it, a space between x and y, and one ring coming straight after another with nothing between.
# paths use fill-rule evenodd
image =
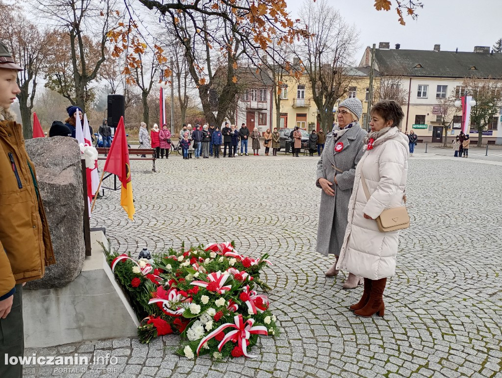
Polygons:
<instances>
[{"instance_id":1,"label":"pale overcast sky above the dark roof at upper right","mask_svg":"<svg viewBox=\"0 0 502 378\"><path fill-rule=\"evenodd\" d=\"M286 0L288 10L298 17L303 0ZM312 1L312 0L311 0ZM395 0L392 0L393 5ZM341 16L359 29L361 48L355 57L359 63L364 48L373 43L399 43L401 49L432 50L435 44L443 51L474 51L474 46L493 46L502 38L502 0L422 0L418 20L405 17L398 22L395 9L376 11L374 0L329 0Z\"/></svg>"}]
</instances>

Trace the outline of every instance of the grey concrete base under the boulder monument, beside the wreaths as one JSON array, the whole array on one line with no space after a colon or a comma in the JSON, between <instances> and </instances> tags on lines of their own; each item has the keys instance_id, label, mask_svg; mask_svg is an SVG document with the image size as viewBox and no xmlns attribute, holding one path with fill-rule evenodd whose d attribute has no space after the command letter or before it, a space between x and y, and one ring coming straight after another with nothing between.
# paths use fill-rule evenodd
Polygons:
<instances>
[{"instance_id":1,"label":"grey concrete base under the boulder monument, beside the wreaths","mask_svg":"<svg viewBox=\"0 0 502 378\"><path fill-rule=\"evenodd\" d=\"M38 348L84 340L136 336L138 319L117 286L98 240L91 232L92 256L67 286L24 290L25 347Z\"/></svg>"}]
</instances>

